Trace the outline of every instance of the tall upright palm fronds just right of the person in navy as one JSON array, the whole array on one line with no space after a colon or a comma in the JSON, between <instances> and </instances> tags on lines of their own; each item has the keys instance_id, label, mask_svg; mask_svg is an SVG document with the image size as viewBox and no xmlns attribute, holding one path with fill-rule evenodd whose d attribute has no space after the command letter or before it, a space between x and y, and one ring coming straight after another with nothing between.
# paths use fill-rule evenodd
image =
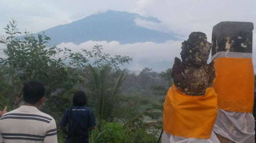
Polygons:
<instances>
[{"instance_id":1,"label":"tall upright palm fronds just right of the person in navy","mask_svg":"<svg viewBox=\"0 0 256 143\"><path fill-rule=\"evenodd\" d=\"M125 80L125 69L117 71L117 78L114 80L110 65L103 65L102 67L89 65L87 69L89 98L92 99L92 106L96 111L100 129L102 120L110 121L114 117L112 111L117 107L120 88Z\"/></svg>"}]
</instances>

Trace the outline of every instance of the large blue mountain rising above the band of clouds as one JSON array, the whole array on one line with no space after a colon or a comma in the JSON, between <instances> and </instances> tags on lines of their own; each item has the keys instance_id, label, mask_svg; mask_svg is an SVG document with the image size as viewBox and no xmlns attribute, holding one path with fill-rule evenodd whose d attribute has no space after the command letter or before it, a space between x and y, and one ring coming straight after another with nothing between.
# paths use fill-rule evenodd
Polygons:
<instances>
[{"instance_id":1,"label":"large blue mountain rising above the band of clouds","mask_svg":"<svg viewBox=\"0 0 256 143\"><path fill-rule=\"evenodd\" d=\"M124 11L107 11L87 16L69 24L55 26L44 32L45 35L51 38L49 45L62 42L80 44L90 40L119 41L121 44L148 41L162 43L177 39L173 33L156 31L136 25L134 20L137 18L156 24L161 23L154 17L145 18L138 14ZM39 33L42 34L42 31Z\"/></svg>"}]
</instances>

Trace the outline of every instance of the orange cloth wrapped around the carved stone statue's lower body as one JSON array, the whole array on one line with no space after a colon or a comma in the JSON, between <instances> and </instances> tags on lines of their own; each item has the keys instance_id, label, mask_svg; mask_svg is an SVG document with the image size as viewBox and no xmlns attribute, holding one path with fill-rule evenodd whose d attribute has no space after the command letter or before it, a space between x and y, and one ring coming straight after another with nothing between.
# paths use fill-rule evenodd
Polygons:
<instances>
[{"instance_id":1,"label":"orange cloth wrapped around the carved stone statue's lower body","mask_svg":"<svg viewBox=\"0 0 256 143\"><path fill-rule=\"evenodd\" d=\"M207 88L205 96L187 96L173 85L164 102L163 128L175 136L209 139L217 114L213 88Z\"/></svg>"}]
</instances>

